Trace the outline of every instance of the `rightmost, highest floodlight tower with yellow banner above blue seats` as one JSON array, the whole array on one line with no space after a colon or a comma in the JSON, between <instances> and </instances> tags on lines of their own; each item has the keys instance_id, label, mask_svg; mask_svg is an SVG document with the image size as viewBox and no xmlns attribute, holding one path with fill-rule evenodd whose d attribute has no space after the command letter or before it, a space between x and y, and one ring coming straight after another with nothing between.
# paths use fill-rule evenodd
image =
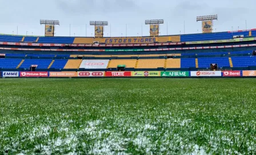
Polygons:
<instances>
[{"instance_id":1,"label":"rightmost, highest floodlight tower with yellow banner above blue seats","mask_svg":"<svg viewBox=\"0 0 256 155\"><path fill-rule=\"evenodd\" d=\"M203 32L212 32L213 31L213 21L218 20L218 15L204 15L198 16L197 22L202 21L202 31ZM210 25L209 28L206 28L207 25Z\"/></svg>"}]
</instances>

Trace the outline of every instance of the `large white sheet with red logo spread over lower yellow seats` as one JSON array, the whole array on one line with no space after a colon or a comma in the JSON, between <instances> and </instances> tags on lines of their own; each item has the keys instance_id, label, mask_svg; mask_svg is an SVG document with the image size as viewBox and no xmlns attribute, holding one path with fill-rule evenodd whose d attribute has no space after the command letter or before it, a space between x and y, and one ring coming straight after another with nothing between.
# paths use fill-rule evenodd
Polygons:
<instances>
[{"instance_id":1,"label":"large white sheet with red logo spread over lower yellow seats","mask_svg":"<svg viewBox=\"0 0 256 155\"><path fill-rule=\"evenodd\" d=\"M83 60L79 68L106 69L109 60Z\"/></svg>"}]
</instances>

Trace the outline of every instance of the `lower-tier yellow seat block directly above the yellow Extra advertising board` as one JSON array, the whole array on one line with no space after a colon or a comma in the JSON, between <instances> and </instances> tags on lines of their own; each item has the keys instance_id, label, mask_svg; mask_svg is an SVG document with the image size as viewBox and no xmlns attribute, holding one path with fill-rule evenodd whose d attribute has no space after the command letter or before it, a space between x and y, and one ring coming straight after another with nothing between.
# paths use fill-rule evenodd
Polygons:
<instances>
[{"instance_id":1,"label":"lower-tier yellow seat block directly above the yellow Extra advertising board","mask_svg":"<svg viewBox=\"0 0 256 155\"><path fill-rule=\"evenodd\" d=\"M137 68L163 68L165 59L139 59Z\"/></svg>"}]
</instances>

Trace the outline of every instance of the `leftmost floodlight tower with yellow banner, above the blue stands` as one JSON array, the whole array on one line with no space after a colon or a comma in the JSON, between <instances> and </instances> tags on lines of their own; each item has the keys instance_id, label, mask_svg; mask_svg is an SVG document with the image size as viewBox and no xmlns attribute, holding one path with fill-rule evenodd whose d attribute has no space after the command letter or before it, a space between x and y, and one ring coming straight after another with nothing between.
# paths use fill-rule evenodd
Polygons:
<instances>
[{"instance_id":1,"label":"leftmost floodlight tower with yellow banner, above the blue stands","mask_svg":"<svg viewBox=\"0 0 256 155\"><path fill-rule=\"evenodd\" d=\"M40 25L45 25L45 36L54 36L55 25L59 25L59 21L40 20Z\"/></svg>"}]
</instances>

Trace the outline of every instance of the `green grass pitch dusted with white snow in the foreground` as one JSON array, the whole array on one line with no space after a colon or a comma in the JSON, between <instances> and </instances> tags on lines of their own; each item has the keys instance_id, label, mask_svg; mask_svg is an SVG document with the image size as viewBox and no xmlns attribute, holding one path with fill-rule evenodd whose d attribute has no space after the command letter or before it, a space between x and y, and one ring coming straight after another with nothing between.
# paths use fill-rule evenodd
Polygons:
<instances>
[{"instance_id":1,"label":"green grass pitch dusted with white snow in the foreground","mask_svg":"<svg viewBox=\"0 0 256 155\"><path fill-rule=\"evenodd\" d=\"M0 79L0 154L254 154L255 79Z\"/></svg>"}]
</instances>

